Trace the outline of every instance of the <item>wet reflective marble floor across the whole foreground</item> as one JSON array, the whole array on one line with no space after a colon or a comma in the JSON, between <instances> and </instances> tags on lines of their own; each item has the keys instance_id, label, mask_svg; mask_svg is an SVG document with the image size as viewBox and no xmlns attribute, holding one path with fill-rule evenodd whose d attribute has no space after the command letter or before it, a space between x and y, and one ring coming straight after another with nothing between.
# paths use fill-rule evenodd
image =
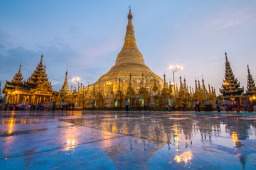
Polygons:
<instances>
[{"instance_id":1,"label":"wet reflective marble floor across the whole foreground","mask_svg":"<svg viewBox=\"0 0 256 170\"><path fill-rule=\"evenodd\" d=\"M0 112L0 169L256 169L256 115Z\"/></svg>"}]
</instances>

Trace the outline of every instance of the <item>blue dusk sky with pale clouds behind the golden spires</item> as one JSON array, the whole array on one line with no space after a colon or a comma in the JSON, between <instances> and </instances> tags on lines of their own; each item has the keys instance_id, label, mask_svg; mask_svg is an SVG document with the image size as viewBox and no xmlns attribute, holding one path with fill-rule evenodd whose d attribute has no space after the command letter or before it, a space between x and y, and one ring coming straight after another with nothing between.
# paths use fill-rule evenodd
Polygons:
<instances>
[{"instance_id":1,"label":"blue dusk sky with pale clouds behind the golden spires","mask_svg":"<svg viewBox=\"0 0 256 170\"><path fill-rule=\"evenodd\" d=\"M0 1L0 79L11 81L22 64L23 79L43 52L46 74L58 91L68 66L68 85L80 77L97 81L122 49L132 6L137 47L147 66L173 79L169 66L194 88L203 78L217 94L225 71L225 51L241 86L247 64L256 79L256 1Z\"/></svg>"}]
</instances>

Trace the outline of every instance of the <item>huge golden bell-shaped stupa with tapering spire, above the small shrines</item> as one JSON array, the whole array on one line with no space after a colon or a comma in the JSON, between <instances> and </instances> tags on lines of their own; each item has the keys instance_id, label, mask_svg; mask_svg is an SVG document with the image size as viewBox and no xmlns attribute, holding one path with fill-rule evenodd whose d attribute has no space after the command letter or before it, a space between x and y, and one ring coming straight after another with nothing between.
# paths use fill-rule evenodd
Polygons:
<instances>
[{"instance_id":1,"label":"huge golden bell-shaped stupa with tapering spire, above the small shrines","mask_svg":"<svg viewBox=\"0 0 256 170\"><path fill-rule=\"evenodd\" d=\"M118 79L121 79L123 82L127 82L130 79L130 75L132 76L132 80L138 80L142 79L142 74L144 79L145 77L147 78L149 84L153 83L154 79L159 81L160 84L163 84L164 81L161 77L154 74L154 72L146 66L143 55L139 52L136 45L134 26L132 25L131 8L129 9L126 29L124 46L117 55L117 60L115 61L114 66L98 80L100 81L100 84L117 81Z\"/></svg>"}]
</instances>

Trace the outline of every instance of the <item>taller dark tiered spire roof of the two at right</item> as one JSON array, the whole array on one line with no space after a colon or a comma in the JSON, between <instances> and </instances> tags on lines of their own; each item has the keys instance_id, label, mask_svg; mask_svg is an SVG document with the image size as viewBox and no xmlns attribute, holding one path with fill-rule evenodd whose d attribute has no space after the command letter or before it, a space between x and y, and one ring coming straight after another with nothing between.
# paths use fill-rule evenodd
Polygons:
<instances>
[{"instance_id":1,"label":"taller dark tiered spire roof of the two at right","mask_svg":"<svg viewBox=\"0 0 256 170\"><path fill-rule=\"evenodd\" d=\"M230 62L228 62L227 52L225 52L225 60L225 80L223 81L223 89L220 89L220 93L223 94L224 98L238 98L242 95L244 88L240 88L238 79L235 79Z\"/></svg>"}]
</instances>

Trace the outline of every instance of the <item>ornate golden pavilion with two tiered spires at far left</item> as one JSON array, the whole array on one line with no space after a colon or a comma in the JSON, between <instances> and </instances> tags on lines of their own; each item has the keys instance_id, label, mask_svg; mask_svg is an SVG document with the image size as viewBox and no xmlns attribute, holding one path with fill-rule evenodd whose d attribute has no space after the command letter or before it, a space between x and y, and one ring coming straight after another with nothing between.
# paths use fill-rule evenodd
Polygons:
<instances>
[{"instance_id":1,"label":"ornate golden pavilion with two tiered spires at far left","mask_svg":"<svg viewBox=\"0 0 256 170\"><path fill-rule=\"evenodd\" d=\"M6 96L6 103L9 104L37 104L53 101L56 92L53 91L51 83L48 81L46 66L43 65L43 54L36 70L27 81L23 81L20 65L14 79L6 80L3 93Z\"/></svg>"}]
</instances>

